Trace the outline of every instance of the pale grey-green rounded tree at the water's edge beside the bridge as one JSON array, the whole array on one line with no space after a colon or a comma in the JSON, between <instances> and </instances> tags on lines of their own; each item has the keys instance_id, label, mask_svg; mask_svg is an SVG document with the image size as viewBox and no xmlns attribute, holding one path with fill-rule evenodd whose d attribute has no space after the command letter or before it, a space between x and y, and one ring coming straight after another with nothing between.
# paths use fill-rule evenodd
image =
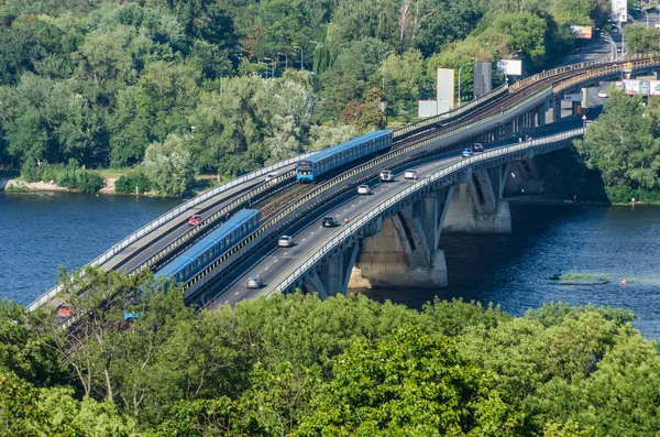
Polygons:
<instances>
[{"instance_id":1,"label":"pale grey-green rounded tree at the water's edge beside the bridge","mask_svg":"<svg viewBox=\"0 0 660 437\"><path fill-rule=\"evenodd\" d=\"M184 136L170 134L163 143L152 143L144 156L146 171L156 188L165 196L182 196L194 179L194 167Z\"/></svg>"}]
</instances>

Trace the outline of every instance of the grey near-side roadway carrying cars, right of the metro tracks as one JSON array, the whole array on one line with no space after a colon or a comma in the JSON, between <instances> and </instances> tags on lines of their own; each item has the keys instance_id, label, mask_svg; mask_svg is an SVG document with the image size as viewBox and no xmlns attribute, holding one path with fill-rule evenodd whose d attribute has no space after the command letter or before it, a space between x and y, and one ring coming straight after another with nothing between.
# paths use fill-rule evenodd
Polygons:
<instances>
[{"instance_id":1,"label":"grey near-side roadway carrying cars, right of the metro tracks","mask_svg":"<svg viewBox=\"0 0 660 437\"><path fill-rule=\"evenodd\" d=\"M590 113L590 117L596 117L598 112L600 109L593 110ZM563 131L581 128L583 125L582 123L583 122L579 116L569 117L562 119L561 122L552 123L539 129L537 138L548 136ZM484 146L487 151L516 143L517 142L512 143L510 141L499 141L484 144ZM305 220L306 225L294 226L290 229L290 233L285 232L286 234L294 236L296 244L293 248L274 248L270 253L258 260L249 260L246 265L250 266L241 270L244 273L238 275L238 277L234 277L231 285L222 291L219 291L218 295L213 297L207 296L208 303L206 303L206 306L209 308L215 308L221 304L233 306L240 301L263 295L264 291L268 288L268 285L275 281L282 274L282 272L289 269L302 256L306 256L308 252L321 241L328 240L334 234L339 233L342 230L342 223L345 217L349 217L349 219L356 217L378 205L384 199L393 197L398 192L405 189L409 184L414 183L414 181L404 179L403 173L406 168L417 170L419 178L424 178L425 176L436 173L439 170L448 167L451 164L460 161L462 161L461 154L455 151L425 159L419 163L409 164L403 168L394 170L396 174L396 181L394 183L381 183L378 179L374 179L369 184L370 187L372 187L371 196L360 196L355 190L353 190L350 195L342 197L341 203L336 203L336 205L317 209ZM321 226L322 217L328 215L337 217L339 222L338 227L323 228ZM248 278L254 276L260 276L264 281L264 288L254 289L245 287L245 282ZM205 305L204 302L200 304Z\"/></svg>"}]
</instances>

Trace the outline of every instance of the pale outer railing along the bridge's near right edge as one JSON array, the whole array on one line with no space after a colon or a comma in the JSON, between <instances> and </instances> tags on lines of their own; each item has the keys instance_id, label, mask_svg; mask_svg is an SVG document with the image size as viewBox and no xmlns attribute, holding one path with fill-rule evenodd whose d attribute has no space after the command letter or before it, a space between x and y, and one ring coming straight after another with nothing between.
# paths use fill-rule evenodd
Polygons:
<instances>
[{"instance_id":1,"label":"pale outer railing along the bridge's near right edge","mask_svg":"<svg viewBox=\"0 0 660 437\"><path fill-rule=\"evenodd\" d=\"M376 207L372 208L369 211L363 212L361 217L351 221L350 225L345 227L339 234L332 237L328 242L323 243L316 250L308 251L301 259L306 260L299 265L294 265L289 267L287 271L283 273L284 276L282 280L276 280L276 284L271 288L271 291L266 291L264 293L265 296L270 296L273 293L282 293L292 287L296 281L305 274L305 272L309 271L316 263L321 261L326 255L332 253L342 242L358 232L360 229L365 227L369 222L374 220L376 217L381 216L385 210L394 207L396 204L404 200L406 197L413 195L414 193L427 187L430 184L437 183L439 179L453 175L460 171L468 168L469 166L484 161L495 160L503 155L508 155L512 153L526 151L530 149L535 149L538 146L547 145L550 143L557 143L560 141L564 141L568 139L580 136L584 133L584 129L573 129L566 132L562 132L557 135L546 136L538 140L526 141L524 143L517 143L512 146L496 149L494 151L488 151L485 153L481 153L479 155L473 155L472 157L462 160L455 164L452 164L441 171L426 176L418 181L417 183L406 187L402 192L397 193L393 197L389 197L384 203L378 204Z\"/></svg>"}]
</instances>

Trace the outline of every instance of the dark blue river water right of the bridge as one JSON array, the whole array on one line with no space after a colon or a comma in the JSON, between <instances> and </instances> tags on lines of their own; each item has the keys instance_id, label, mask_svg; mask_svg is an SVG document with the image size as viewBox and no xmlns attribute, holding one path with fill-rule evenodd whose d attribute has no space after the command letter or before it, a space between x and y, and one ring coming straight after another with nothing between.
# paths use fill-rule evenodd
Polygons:
<instances>
[{"instance_id":1,"label":"dark blue river water right of the bridge","mask_svg":"<svg viewBox=\"0 0 660 437\"><path fill-rule=\"evenodd\" d=\"M512 205L513 233L443 234L449 287L430 291L369 291L414 308L462 297L493 302L513 315L546 302L592 303L635 312L635 326L660 338L660 207ZM558 273L606 275L597 286L559 285ZM619 285L625 277L627 286Z\"/></svg>"}]
</instances>

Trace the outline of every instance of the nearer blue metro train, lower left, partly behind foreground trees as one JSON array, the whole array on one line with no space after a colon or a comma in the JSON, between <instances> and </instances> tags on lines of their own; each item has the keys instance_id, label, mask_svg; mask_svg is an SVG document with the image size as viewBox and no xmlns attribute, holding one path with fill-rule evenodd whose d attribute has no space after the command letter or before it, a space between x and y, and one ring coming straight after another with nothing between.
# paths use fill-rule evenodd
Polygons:
<instances>
[{"instance_id":1,"label":"nearer blue metro train, lower left, partly behind foreground trees","mask_svg":"<svg viewBox=\"0 0 660 437\"><path fill-rule=\"evenodd\" d=\"M186 283L226 254L238 242L258 228L260 215L256 209L242 209L218 229L196 242L191 248L158 270L154 278L164 277L164 288L170 281ZM139 316L141 305L139 293L129 293L124 298L123 318L129 320Z\"/></svg>"}]
</instances>

